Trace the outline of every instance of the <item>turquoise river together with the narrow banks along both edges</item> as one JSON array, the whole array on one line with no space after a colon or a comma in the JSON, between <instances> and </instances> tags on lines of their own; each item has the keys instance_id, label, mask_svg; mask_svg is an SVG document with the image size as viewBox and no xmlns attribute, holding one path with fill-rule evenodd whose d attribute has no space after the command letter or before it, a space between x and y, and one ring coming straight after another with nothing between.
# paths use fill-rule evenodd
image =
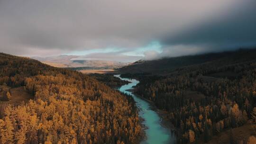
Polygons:
<instances>
[{"instance_id":1,"label":"turquoise river together with the narrow banks along both edges","mask_svg":"<svg viewBox=\"0 0 256 144\"><path fill-rule=\"evenodd\" d=\"M118 90L124 92L128 95L131 95L134 100L136 101L136 106L138 108L138 114L141 120L142 136L138 138L138 142L140 144L175 144L175 136L171 132L171 125L167 122L166 118L164 117L165 113L161 113L160 110L157 110L155 105L146 100L141 98L138 95L132 93L131 89L136 86L139 81L135 79L127 79L121 78L120 75L114 75L119 77L121 80L131 81L131 83L127 85L123 85ZM166 121L166 122L165 122ZM143 140L144 139L144 140ZM142 141L141 141L142 140ZM139 142L141 141L141 142Z\"/></svg>"}]
</instances>

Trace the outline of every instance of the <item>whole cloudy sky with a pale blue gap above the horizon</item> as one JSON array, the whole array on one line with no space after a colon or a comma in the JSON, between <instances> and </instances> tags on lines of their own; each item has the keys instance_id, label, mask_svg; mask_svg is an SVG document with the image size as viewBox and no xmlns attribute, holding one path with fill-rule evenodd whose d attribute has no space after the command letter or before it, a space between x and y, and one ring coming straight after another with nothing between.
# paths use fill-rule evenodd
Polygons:
<instances>
[{"instance_id":1,"label":"whole cloudy sky with a pale blue gap above the horizon","mask_svg":"<svg viewBox=\"0 0 256 144\"><path fill-rule=\"evenodd\" d=\"M256 46L256 0L0 0L0 52L134 62Z\"/></svg>"}]
</instances>

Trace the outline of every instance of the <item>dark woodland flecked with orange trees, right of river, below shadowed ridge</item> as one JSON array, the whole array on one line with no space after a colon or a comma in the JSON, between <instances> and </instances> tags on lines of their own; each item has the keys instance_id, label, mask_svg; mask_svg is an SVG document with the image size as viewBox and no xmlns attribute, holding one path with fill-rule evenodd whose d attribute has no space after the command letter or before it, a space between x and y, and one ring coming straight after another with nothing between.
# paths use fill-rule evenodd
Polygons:
<instances>
[{"instance_id":1,"label":"dark woodland flecked with orange trees, right of river, below shadowed ridge","mask_svg":"<svg viewBox=\"0 0 256 144\"><path fill-rule=\"evenodd\" d=\"M165 75L121 76L139 79L135 92L168 111L181 144L199 139L206 143L223 130L256 122L256 50L240 50ZM243 144L233 136L230 144ZM244 144L255 144L255 137L251 139Z\"/></svg>"}]
</instances>

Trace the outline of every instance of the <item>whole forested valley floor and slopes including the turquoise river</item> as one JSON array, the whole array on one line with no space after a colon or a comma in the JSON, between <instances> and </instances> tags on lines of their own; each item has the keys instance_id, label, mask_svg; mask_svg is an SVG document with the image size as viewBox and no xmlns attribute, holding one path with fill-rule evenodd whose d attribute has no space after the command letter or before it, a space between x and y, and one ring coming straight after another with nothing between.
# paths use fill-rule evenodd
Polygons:
<instances>
[{"instance_id":1,"label":"whole forested valley floor and slopes including the turquoise river","mask_svg":"<svg viewBox=\"0 0 256 144\"><path fill-rule=\"evenodd\" d=\"M189 59L209 55L211 58L200 63L187 63L186 56L177 57L185 60L174 67L159 64L155 69L149 64L155 63L153 60L115 71L86 72L79 67L56 68L1 53L0 128L5 131L1 139L9 143L22 138L22 142L31 143L80 144L223 144L253 140L256 49ZM144 72L134 68L138 63ZM12 119L21 115L27 119ZM23 124L33 118L33 125ZM19 132L20 126L26 128L24 133ZM71 133L63 133L65 129ZM32 134L37 140L28 136ZM67 135L72 136L64 139Z\"/></svg>"}]
</instances>

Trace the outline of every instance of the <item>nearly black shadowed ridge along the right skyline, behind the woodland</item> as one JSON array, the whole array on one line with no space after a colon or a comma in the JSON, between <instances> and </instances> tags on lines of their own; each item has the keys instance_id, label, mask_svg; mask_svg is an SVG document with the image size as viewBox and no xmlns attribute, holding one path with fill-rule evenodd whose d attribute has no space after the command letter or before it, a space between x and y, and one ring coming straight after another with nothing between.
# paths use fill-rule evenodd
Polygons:
<instances>
[{"instance_id":1,"label":"nearly black shadowed ridge along the right skyline, behind the woodland","mask_svg":"<svg viewBox=\"0 0 256 144\"><path fill-rule=\"evenodd\" d=\"M225 62L233 61L247 61L254 59L256 55L256 49L240 49L231 52L222 53L209 53L188 55L179 57L162 58L151 61L137 61L128 66L124 66L119 69L121 73L151 73L151 74L166 74L173 72L175 69L195 65L200 63L206 63L215 60L221 60Z\"/></svg>"}]
</instances>

